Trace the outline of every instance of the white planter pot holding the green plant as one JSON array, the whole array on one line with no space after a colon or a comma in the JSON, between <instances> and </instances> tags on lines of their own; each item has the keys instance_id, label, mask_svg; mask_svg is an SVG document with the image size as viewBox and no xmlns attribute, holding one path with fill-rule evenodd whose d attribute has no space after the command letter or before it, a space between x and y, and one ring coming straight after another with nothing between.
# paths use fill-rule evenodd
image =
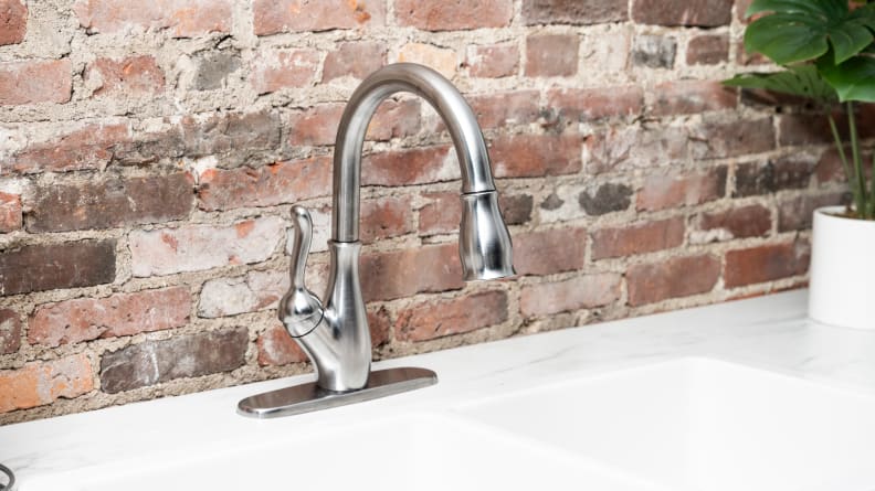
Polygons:
<instances>
[{"instance_id":1,"label":"white planter pot holding the green plant","mask_svg":"<svg viewBox=\"0 0 875 491\"><path fill-rule=\"evenodd\" d=\"M832 325L875 329L875 222L814 211L809 317Z\"/></svg>"}]
</instances>

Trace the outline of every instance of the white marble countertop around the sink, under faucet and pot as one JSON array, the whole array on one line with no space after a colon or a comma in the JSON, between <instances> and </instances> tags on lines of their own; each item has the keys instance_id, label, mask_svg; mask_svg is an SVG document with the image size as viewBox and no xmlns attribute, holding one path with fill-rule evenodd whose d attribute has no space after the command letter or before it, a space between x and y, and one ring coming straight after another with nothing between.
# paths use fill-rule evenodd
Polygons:
<instances>
[{"instance_id":1,"label":"white marble countertop around the sink, under faucet and pot","mask_svg":"<svg viewBox=\"0 0 875 491\"><path fill-rule=\"evenodd\" d=\"M295 439L325 428L440 410L460 402L645 362L713 356L875 392L875 331L805 318L807 291L477 344L376 364L438 372L431 387L305 415L255 420L235 414L242 397L309 380L304 375L0 427L0 462L19 481L156 453L204 452ZM180 453L181 455L181 453ZM27 487L22 487L27 491Z\"/></svg>"}]
</instances>

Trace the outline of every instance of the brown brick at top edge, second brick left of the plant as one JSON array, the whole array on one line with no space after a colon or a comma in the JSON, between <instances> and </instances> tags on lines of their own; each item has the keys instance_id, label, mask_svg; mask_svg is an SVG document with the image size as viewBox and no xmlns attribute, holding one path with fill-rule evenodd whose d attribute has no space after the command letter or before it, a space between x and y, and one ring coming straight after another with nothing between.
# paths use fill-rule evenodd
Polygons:
<instances>
[{"instance_id":1,"label":"brown brick at top edge, second brick left of the plant","mask_svg":"<svg viewBox=\"0 0 875 491\"><path fill-rule=\"evenodd\" d=\"M602 24L629 19L625 0L523 0L523 21L535 24Z\"/></svg>"}]
</instances>

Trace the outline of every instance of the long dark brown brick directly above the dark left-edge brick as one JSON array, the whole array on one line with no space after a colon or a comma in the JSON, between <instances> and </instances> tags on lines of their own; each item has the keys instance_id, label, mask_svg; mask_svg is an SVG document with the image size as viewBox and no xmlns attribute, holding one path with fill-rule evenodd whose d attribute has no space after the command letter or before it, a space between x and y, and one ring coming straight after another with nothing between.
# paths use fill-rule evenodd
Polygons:
<instances>
[{"instance_id":1,"label":"long dark brown brick directly above the dark left-edge brick","mask_svg":"<svg viewBox=\"0 0 875 491\"><path fill-rule=\"evenodd\" d=\"M36 186L29 232L113 228L181 220L193 209L188 173Z\"/></svg>"}]
</instances>

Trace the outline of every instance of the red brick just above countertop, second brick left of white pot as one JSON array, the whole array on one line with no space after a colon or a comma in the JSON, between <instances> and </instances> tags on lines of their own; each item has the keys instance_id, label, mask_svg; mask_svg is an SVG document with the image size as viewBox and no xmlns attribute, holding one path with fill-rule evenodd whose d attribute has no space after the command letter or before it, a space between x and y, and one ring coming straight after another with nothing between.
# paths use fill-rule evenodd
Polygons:
<instances>
[{"instance_id":1,"label":"red brick just above countertop, second brick left of white pot","mask_svg":"<svg viewBox=\"0 0 875 491\"><path fill-rule=\"evenodd\" d=\"M654 303L670 298L710 291L720 277L720 261L709 255L672 257L626 270L629 305Z\"/></svg>"}]
</instances>

